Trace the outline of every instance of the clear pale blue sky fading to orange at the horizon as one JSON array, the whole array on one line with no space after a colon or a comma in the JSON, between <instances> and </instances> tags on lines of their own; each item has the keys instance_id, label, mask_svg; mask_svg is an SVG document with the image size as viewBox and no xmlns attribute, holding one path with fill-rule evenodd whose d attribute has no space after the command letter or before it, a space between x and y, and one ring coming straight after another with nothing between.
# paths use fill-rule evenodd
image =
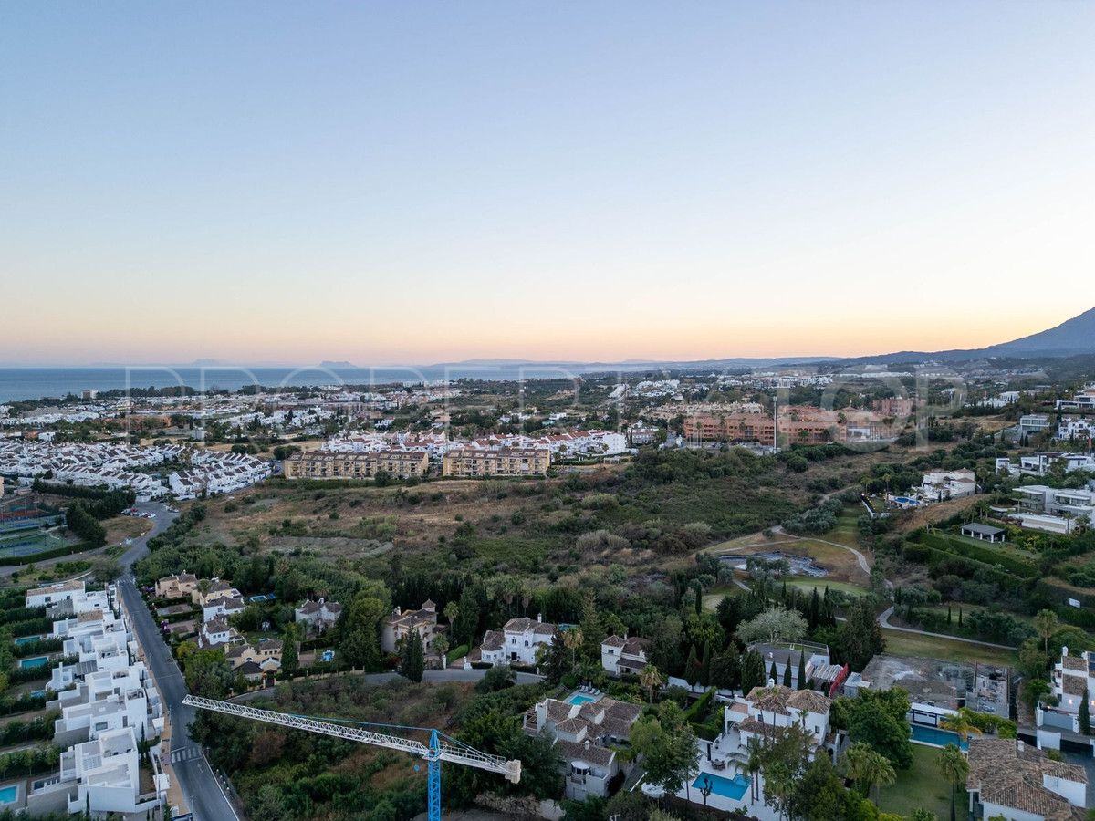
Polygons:
<instances>
[{"instance_id":1,"label":"clear pale blue sky fading to orange at the horizon","mask_svg":"<svg viewBox=\"0 0 1095 821\"><path fill-rule=\"evenodd\" d=\"M1095 304L1095 3L0 3L0 362L980 347Z\"/></svg>"}]
</instances>

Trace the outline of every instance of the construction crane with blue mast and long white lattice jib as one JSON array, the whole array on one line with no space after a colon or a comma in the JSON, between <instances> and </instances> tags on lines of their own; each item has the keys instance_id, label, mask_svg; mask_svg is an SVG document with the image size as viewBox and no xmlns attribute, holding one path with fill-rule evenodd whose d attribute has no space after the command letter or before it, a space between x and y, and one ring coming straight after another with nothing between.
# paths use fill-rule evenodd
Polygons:
<instances>
[{"instance_id":1,"label":"construction crane with blue mast and long white lattice jib","mask_svg":"<svg viewBox=\"0 0 1095 821\"><path fill-rule=\"evenodd\" d=\"M357 725L346 727L337 721L342 719L320 719L311 716L297 716L288 713L276 713L272 709L256 709L243 704L232 704L231 702L218 702L212 698L201 698L196 695L187 695L183 698L183 704L199 709L208 709L214 713L222 713L227 716L239 716L250 718L255 721L275 724L279 727L288 727L292 730L304 730L306 732L319 732L323 736L357 741L362 744L383 747L388 750L400 750L402 752L417 755L426 760L427 771L427 805L429 821L441 821L441 762L448 761L453 764L463 764L469 767L486 770L488 773L498 773L506 776L506 780L517 784L521 780L521 762L519 760L506 761L498 755L488 755L480 752L468 744L457 741L454 738L446 736L440 730L426 727L395 727L392 725L366 724L362 721L346 721L346 724ZM429 733L429 744L424 744L415 739L392 736L387 732L365 729L365 727L382 727L399 730L420 730Z\"/></svg>"}]
</instances>

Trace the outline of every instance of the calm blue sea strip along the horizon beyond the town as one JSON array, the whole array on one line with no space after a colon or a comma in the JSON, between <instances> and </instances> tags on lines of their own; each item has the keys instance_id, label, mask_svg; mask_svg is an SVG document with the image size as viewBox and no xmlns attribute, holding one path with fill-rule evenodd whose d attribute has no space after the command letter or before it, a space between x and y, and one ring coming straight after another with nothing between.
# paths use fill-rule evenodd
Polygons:
<instances>
[{"instance_id":1,"label":"calm blue sea strip along the horizon beyond the town","mask_svg":"<svg viewBox=\"0 0 1095 821\"><path fill-rule=\"evenodd\" d=\"M588 369L593 370L593 369ZM604 370L601 368L600 370ZM233 368L210 366L111 368L0 368L0 402L79 395L81 391L186 385L195 390L239 390L308 385L381 385L393 382L438 382L453 379L565 379L584 372L581 366L460 365L422 368Z\"/></svg>"}]
</instances>

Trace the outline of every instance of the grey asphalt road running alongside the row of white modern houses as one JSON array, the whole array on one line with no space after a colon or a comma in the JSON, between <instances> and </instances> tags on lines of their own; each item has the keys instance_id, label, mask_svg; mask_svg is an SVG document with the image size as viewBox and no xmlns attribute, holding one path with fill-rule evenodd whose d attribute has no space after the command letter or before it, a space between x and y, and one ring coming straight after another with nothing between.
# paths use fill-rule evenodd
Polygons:
<instances>
[{"instance_id":1,"label":"grey asphalt road running alongside the row of white modern houses","mask_svg":"<svg viewBox=\"0 0 1095 821\"><path fill-rule=\"evenodd\" d=\"M188 809L196 821L231 821L239 817L224 797L201 749L189 737L189 725L194 720L195 710L182 703L186 695L183 674L129 574L132 563L148 555L148 540L170 525L175 514L170 513L166 506L157 502L141 504L137 508L155 513L155 519L152 530L140 539L135 539L132 546L123 554L120 560L125 574L118 582L118 589L129 612L134 634L145 648L145 658L171 716L171 763L178 786L186 796Z\"/></svg>"}]
</instances>

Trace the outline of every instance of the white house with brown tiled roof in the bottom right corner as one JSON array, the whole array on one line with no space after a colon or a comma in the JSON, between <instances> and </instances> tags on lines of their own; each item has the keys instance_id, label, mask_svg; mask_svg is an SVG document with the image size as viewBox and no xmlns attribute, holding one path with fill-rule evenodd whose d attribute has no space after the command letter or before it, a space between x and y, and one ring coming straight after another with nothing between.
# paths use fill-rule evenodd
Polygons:
<instances>
[{"instance_id":1,"label":"white house with brown tiled roof in the bottom right corner","mask_svg":"<svg viewBox=\"0 0 1095 821\"><path fill-rule=\"evenodd\" d=\"M973 819L1074 821L1085 818L1087 773L1053 761L1017 739L969 742L969 811Z\"/></svg>"}]
</instances>

